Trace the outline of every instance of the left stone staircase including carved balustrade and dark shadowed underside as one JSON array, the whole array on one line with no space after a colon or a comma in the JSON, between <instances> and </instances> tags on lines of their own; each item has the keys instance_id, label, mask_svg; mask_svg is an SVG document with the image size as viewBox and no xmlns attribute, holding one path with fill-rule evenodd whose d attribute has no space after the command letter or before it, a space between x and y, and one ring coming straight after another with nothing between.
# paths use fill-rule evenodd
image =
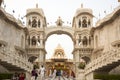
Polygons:
<instances>
[{"instance_id":1,"label":"left stone staircase including carved balustrade and dark shadowed underside","mask_svg":"<svg viewBox=\"0 0 120 80\"><path fill-rule=\"evenodd\" d=\"M15 51L0 48L0 64L9 71L31 71L33 65L27 57L19 55Z\"/></svg>"}]
</instances>

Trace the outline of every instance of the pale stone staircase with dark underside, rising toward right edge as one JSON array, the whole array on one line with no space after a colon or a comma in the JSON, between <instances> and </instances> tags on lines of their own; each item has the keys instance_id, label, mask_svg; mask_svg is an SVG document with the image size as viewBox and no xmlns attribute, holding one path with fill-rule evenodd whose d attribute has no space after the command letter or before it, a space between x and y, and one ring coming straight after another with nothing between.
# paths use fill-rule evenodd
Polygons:
<instances>
[{"instance_id":1,"label":"pale stone staircase with dark underside, rising toward right edge","mask_svg":"<svg viewBox=\"0 0 120 80\"><path fill-rule=\"evenodd\" d=\"M120 65L120 49L113 49L103 53L97 59L91 61L85 68L85 74L92 71L110 71Z\"/></svg>"}]
</instances>

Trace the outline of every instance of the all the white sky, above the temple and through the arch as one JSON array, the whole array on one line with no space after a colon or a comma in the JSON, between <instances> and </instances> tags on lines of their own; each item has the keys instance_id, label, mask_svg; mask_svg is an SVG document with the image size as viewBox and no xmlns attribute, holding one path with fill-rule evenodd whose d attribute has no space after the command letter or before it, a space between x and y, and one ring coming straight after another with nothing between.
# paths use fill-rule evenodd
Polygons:
<instances>
[{"instance_id":1,"label":"all the white sky, above the temple and through the arch","mask_svg":"<svg viewBox=\"0 0 120 80\"><path fill-rule=\"evenodd\" d=\"M47 23L49 25L55 25L55 21L60 16L64 21L64 25L69 25L75 15L75 12L83 4L84 8L91 8L93 10L94 24L98 19L102 19L107 14L111 13L120 3L118 0L4 0L6 12L12 14L16 18L26 15L26 10L29 8L35 8L38 4L39 8L42 8L44 15L46 16ZM13 13L13 10L15 13ZM105 13L106 12L106 13ZM21 19L22 20L22 19ZM26 21L24 17L22 21ZM48 25L48 26L49 26ZM47 58L50 58L54 53L54 49L58 44L64 48L65 54L68 58L72 58L73 42L68 35L56 35L53 34L48 37L45 48L47 51Z\"/></svg>"}]
</instances>

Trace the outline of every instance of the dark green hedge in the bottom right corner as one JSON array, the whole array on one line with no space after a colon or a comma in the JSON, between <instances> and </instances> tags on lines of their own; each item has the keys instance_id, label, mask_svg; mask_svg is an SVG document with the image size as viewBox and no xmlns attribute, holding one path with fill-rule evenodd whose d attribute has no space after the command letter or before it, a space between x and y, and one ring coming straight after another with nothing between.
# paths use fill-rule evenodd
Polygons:
<instances>
[{"instance_id":1,"label":"dark green hedge in the bottom right corner","mask_svg":"<svg viewBox=\"0 0 120 80\"><path fill-rule=\"evenodd\" d=\"M120 75L114 75L114 74L94 74L94 79L120 80Z\"/></svg>"}]
</instances>

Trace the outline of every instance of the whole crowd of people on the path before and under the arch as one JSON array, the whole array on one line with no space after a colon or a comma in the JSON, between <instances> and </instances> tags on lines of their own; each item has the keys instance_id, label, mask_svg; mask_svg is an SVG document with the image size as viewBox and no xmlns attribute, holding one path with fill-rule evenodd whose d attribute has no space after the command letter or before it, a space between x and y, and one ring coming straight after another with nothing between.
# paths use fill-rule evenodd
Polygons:
<instances>
[{"instance_id":1,"label":"whole crowd of people on the path before and under the arch","mask_svg":"<svg viewBox=\"0 0 120 80\"><path fill-rule=\"evenodd\" d=\"M45 80L45 73L47 74L47 71L45 70L43 65L40 67L40 69L33 68L33 70L31 71L31 80ZM70 76L75 78L73 71L71 72ZM69 78L70 76L69 73L67 73L66 71L56 70L56 69L49 70L49 74L48 74L48 77L52 79L55 79L57 77Z\"/></svg>"}]
</instances>

